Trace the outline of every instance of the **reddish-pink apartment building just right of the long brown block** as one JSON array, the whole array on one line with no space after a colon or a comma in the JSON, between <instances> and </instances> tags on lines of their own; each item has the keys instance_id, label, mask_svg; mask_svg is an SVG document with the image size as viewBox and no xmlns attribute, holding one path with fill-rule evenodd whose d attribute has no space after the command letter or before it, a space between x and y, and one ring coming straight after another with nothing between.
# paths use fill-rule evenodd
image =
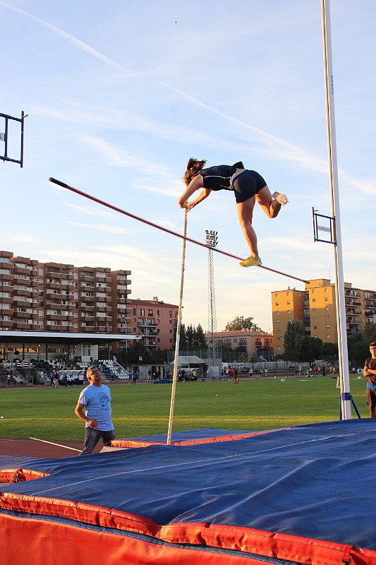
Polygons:
<instances>
[{"instance_id":1,"label":"reddish-pink apartment building just right of the long brown block","mask_svg":"<svg viewBox=\"0 0 376 565\"><path fill-rule=\"evenodd\" d=\"M158 297L152 300L132 299L126 333L142 336L149 349L170 349L178 322L178 306L166 304ZM129 321L131 319L131 321Z\"/></svg>"}]
</instances>

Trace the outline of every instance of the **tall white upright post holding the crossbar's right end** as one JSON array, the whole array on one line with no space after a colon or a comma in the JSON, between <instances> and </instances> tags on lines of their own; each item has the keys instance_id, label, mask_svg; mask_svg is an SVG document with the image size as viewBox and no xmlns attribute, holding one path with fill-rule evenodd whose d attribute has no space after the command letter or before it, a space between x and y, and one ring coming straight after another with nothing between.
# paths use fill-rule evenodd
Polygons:
<instances>
[{"instance_id":1,"label":"tall white upright post holding the crossbar's right end","mask_svg":"<svg viewBox=\"0 0 376 565\"><path fill-rule=\"evenodd\" d=\"M327 103L327 138L330 196L334 218L334 270L336 292L336 323L338 333L339 379L341 383L341 415L351 420L350 377L346 333L344 266L342 262L341 220L339 215L338 167L336 161L336 126L334 120L334 85L332 69L332 37L329 0L322 0L322 42L324 47L325 98Z\"/></svg>"}]
</instances>

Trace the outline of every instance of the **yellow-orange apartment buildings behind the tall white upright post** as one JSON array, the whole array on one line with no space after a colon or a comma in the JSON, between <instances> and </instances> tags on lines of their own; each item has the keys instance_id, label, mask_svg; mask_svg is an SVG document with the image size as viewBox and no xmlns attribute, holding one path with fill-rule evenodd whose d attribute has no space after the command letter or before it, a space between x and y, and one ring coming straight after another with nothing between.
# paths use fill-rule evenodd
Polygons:
<instances>
[{"instance_id":1,"label":"yellow-orange apartment buildings behind the tall white upright post","mask_svg":"<svg viewBox=\"0 0 376 565\"><path fill-rule=\"evenodd\" d=\"M376 320L376 291L344 283L346 330L360 333ZM336 295L334 283L319 278L305 283L305 290L288 288L272 292L274 353L284 352L284 333L289 321L300 320L305 335L336 343Z\"/></svg>"}]
</instances>

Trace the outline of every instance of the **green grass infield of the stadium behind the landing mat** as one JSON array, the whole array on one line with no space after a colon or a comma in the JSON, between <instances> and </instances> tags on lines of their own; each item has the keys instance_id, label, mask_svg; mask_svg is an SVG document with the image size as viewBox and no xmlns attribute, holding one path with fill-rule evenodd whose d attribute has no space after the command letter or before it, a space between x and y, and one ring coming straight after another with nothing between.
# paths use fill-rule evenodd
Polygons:
<instances>
[{"instance_id":1,"label":"green grass infield of the stadium behind the landing mat","mask_svg":"<svg viewBox=\"0 0 376 565\"><path fill-rule=\"evenodd\" d=\"M368 417L365 379L351 378L360 415ZM80 388L0 390L0 437L81 441L83 422L74 415ZM111 386L116 436L167 431L171 385ZM352 410L353 418L356 417ZM177 383L173 432L219 428L261 430L338 420L339 389L329 377L310 379Z\"/></svg>"}]
</instances>

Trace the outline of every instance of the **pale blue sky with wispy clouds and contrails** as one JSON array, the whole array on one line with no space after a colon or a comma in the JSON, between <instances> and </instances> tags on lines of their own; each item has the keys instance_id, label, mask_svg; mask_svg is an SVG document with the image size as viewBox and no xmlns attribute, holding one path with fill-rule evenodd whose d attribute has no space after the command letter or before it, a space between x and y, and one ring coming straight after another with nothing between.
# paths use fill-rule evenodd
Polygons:
<instances>
[{"instance_id":1,"label":"pale blue sky with wispy clouds and contrails","mask_svg":"<svg viewBox=\"0 0 376 565\"><path fill-rule=\"evenodd\" d=\"M330 8L344 279L375 290L376 3ZM313 206L331 214L320 0L0 0L0 22L0 112L28 114L24 167L0 164L1 249L130 269L131 297L178 304L180 239L48 179L182 232L188 157L243 160L289 196L275 220L255 208L265 266L334 281L312 227ZM231 193L188 214L188 237L205 229L248 255ZM218 330L238 315L271 330L271 292L303 288L220 254L214 271ZM207 329L207 251L194 244L183 302L183 323Z\"/></svg>"}]
</instances>

